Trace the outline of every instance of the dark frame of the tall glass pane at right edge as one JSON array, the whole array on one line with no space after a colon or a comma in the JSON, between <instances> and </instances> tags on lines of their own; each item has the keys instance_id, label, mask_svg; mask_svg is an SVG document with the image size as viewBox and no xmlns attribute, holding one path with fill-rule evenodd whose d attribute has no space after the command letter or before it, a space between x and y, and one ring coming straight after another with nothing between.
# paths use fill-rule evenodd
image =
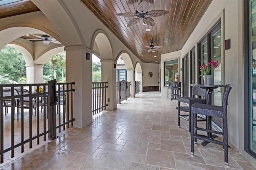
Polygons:
<instances>
[{"instance_id":1,"label":"dark frame of the tall glass pane at right edge","mask_svg":"<svg viewBox=\"0 0 256 170\"><path fill-rule=\"evenodd\" d=\"M249 0L244 0L244 150L256 159L256 153L250 150L249 3Z\"/></svg>"}]
</instances>

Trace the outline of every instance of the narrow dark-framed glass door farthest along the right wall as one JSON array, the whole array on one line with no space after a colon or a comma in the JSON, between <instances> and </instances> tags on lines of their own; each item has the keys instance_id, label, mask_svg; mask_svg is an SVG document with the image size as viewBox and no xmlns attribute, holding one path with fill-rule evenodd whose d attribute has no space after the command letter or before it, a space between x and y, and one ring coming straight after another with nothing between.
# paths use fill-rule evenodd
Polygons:
<instances>
[{"instance_id":1,"label":"narrow dark-framed glass door farthest along the right wall","mask_svg":"<svg viewBox=\"0 0 256 170\"><path fill-rule=\"evenodd\" d=\"M182 95L188 97L188 54L182 58Z\"/></svg>"}]
</instances>

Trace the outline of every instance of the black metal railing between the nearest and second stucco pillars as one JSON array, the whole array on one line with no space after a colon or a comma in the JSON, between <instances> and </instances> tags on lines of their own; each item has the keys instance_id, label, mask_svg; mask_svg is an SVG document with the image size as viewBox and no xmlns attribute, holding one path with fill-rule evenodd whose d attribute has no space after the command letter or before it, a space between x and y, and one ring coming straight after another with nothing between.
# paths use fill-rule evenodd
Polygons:
<instances>
[{"instance_id":1,"label":"black metal railing between the nearest and second stucco pillars","mask_svg":"<svg viewBox=\"0 0 256 170\"><path fill-rule=\"evenodd\" d=\"M108 82L93 82L92 83L92 113L96 115L106 109L106 88Z\"/></svg>"}]
</instances>

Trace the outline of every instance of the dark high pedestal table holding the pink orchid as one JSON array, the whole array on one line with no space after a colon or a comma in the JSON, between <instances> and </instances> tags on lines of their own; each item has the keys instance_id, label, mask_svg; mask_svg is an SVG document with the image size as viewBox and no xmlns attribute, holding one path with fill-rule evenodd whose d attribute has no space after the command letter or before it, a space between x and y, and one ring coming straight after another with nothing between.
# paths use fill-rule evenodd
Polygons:
<instances>
[{"instance_id":1,"label":"dark high pedestal table holding the pink orchid","mask_svg":"<svg viewBox=\"0 0 256 170\"><path fill-rule=\"evenodd\" d=\"M191 84L191 86L193 87L201 87L202 89L206 89L206 104L207 105L211 105L212 104L212 92L214 89L217 89L219 87L225 87L226 85L224 84L218 84L218 85L206 85L206 84ZM206 129L207 130L212 130L212 117L210 116L206 116ZM208 138L216 138L218 137L215 134L212 134L211 132L207 132L207 137ZM206 146L209 142L207 141L203 141L201 144L202 146Z\"/></svg>"}]
</instances>

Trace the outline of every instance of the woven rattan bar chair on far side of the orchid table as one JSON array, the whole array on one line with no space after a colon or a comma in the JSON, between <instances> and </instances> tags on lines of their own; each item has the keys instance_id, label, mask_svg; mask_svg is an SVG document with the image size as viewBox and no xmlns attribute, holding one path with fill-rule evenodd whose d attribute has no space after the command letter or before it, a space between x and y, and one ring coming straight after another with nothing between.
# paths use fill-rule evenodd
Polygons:
<instances>
[{"instance_id":1,"label":"woven rattan bar chair on far side of the orchid table","mask_svg":"<svg viewBox=\"0 0 256 170\"><path fill-rule=\"evenodd\" d=\"M191 132L190 129L190 120L191 120L191 106L194 103L203 103L206 104L206 90L202 89L200 87L193 87L192 89L192 97L179 97L178 98L178 127L180 127L180 118L188 121L188 132ZM196 98L196 97L202 97L202 98ZM204 99L203 99L204 98ZM187 103L188 104L188 115L180 115L180 102ZM206 121L204 119L201 119L200 121Z\"/></svg>"}]
</instances>

